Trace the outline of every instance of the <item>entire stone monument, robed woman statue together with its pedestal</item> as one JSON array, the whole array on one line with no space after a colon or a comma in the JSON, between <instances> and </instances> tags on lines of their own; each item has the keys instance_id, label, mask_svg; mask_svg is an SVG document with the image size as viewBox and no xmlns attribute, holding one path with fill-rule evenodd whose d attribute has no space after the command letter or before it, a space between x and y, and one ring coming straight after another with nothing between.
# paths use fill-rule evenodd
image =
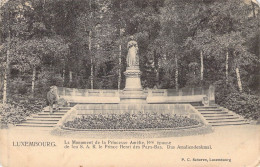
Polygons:
<instances>
[{"instance_id":1,"label":"entire stone monument, robed woman statue together with its pedestal","mask_svg":"<svg viewBox=\"0 0 260 167\"><path fill-rule=\"evenodd\" d=\"M130 37L127 49L127 67L124 72L126 83L120 101L121 103L146 103L146 95L143 93L140 79L138 44L133 36Z\"/></svg>"}]
</instances>

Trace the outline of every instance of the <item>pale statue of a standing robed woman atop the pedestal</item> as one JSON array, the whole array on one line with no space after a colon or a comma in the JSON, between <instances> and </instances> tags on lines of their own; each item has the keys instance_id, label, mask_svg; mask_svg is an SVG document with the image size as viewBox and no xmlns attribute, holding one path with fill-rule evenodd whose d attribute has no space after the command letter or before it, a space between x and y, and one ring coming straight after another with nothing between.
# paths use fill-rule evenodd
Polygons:
<instances>
[{"instance_id":1,"label":"pale statue of a standing robed woman atop the pedestal","mask_svg":"<svg viewBox=\"0 0 260 167\"><path fill-rule=\"evenodd\" d=\"M127 62L127 67L134 67L134 66L139 66L139 58L138 58L138 45L137 42L134 41L134 37L130 37L130 41L127 43L127 57L126 57L126 62Z\"/></svg>"}]
</instances>

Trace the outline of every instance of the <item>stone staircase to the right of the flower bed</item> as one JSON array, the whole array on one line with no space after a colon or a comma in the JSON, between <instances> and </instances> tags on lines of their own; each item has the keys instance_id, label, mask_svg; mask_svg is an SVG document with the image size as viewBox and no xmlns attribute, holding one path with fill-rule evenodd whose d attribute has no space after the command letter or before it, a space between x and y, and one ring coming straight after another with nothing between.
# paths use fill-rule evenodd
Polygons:
<instances>
[{"instance_id":1,"label":"stone staircase to the right of the flower bed","mask_svg":"<svg viewBox=\"0 0 260 167\"><path fill-rule=\"evenodd\" d=\"M220 106L194 106L212 126L244 125L247 120Z\"/></svg>"}]
</instances>

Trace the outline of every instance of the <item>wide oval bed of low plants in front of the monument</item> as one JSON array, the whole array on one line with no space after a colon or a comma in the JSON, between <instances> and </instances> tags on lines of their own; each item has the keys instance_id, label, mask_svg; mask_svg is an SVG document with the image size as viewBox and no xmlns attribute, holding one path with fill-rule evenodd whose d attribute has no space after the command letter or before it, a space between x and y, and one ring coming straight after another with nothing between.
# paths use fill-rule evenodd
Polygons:
<instances>
[{"instance_id":1,"label":"wide oval bed of low plants in front of the monument","mask_svg":"<svg viewBox=\"0 0 260 167\"><path fill-rule=\"evenodd\" d=\"M158 113L86 115L64 123L73 129L169 129L199 125L184 116Z\"/></svg>"}]
</instances>

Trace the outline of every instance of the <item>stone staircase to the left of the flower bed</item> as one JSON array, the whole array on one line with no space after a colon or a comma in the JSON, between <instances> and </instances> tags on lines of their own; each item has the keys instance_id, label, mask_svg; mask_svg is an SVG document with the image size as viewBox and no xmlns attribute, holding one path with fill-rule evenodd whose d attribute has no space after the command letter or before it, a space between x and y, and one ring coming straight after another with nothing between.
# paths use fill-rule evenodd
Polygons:
<instances>
[{"instance_id":1,"label":"stone staircase to the left of the flower bed","mask_svg":"<svg viewBox=\"0 0 260 167\"><path fill-rule=\"evenodd\" d=\"M58 111L50 114L49 111L43 111L38 114L33 114L24 122L17 124L17 127L42 127L52 128L59 120L71 109L71 107L60 107Z\"/></svg>"}]
</instances>

